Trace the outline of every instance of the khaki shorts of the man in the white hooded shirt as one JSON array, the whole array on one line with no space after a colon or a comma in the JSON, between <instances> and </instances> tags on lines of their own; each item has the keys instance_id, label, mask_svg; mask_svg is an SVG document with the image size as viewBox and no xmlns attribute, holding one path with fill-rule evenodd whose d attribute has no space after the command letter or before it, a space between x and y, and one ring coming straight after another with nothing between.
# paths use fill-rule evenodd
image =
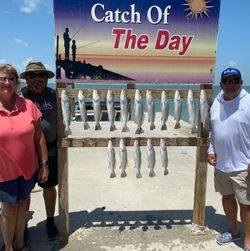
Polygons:
<instances>
[{"instance_id":1,"label":"khaki shorts of the man in the white hooded shirt","mask_svg":"<svg viewBox=\"0 0 250 251\"><path fill-rule=\"evenodd\" d=\"M250 205L250 176L246 171L224 173L214 169L215 191L221 195L234 194L238 202Z\"/></svg>"}]
</instances>

